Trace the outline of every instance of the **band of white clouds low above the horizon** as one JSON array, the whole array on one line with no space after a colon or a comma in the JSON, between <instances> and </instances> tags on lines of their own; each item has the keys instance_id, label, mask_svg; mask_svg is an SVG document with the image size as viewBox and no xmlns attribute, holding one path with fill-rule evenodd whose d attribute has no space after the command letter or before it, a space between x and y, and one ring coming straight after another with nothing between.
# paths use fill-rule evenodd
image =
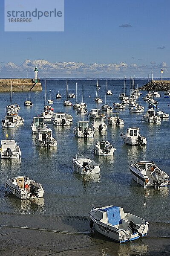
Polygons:
<instances>
[{"instance_id":1,"label":"band of white clouds low above the horizon","mask_svg":"<svg viewBox=\"0 0 170 256\"><path fill-rule=\"evenodd\" d=\"M154 65L153 65L154 64ZM29 77L34 76L34 68L38 67L39 77L123 77L124 75L135 75L147 77L150 70L164 68L167 71L167 64L161 62L156 64L153 61L149 65L138 65L135 63L126 64L124 62L108 64L85 64L83 62L49 62L46 60L25 60L18 65L12 62L0 63L1 77L26 77L26 70ZM155 73L156 73L155 72Z\"/></svg>"}]
</instances>

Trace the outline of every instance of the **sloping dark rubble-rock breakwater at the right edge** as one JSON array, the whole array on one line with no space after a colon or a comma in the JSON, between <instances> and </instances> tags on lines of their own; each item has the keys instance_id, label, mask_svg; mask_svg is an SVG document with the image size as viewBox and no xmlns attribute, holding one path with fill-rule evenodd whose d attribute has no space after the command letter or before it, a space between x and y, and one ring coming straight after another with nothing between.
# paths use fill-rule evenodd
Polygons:
<instances>
[{"instance_id":1,"label":"sloping dark rubble-rock breakwater at the right edge","mask_svg":"<svg viewBox=\"0 0 170 256\"><path fill-rule=\"evenodd\" d=\"M150 81L147 84L144 84L139 88L139 90L156 90L156 91L163 91L163 90L170 90L170 81L163 80L163 81Z\"/></svg>"}]
</instances>

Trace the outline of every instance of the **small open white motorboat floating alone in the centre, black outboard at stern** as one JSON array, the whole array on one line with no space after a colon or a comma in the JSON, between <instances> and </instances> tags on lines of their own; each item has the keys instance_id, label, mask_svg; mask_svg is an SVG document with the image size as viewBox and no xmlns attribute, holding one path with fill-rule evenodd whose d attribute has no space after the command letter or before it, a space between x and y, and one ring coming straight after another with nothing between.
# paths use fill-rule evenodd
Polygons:
<instances>
[{"instance_id":1,"label":"small open white motorboat floating alone in the centre, black outboard at stern","mask_svg":"<svg viewBox=\"0 0 170 256\"><path fill-rule=\"evenodd\" d=\"M98 174L100 172L100 166L91 160L89 157L78 156L73 158L72 163L75 171L80 174Z\"/></svg>"}]
</instances>

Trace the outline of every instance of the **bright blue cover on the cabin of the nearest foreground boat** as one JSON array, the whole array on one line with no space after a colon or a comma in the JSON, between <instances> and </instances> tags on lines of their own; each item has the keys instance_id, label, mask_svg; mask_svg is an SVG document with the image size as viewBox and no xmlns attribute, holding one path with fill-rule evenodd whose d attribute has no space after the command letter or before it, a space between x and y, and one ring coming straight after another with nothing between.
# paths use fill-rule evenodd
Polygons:
<instances>
[{"instance_id":1,"label":"bright blue cover on the cabin of the nearest foreground boat","mask_svg":"<svg viewBox=\"0 0 170 256\"><path fill-rule=\"evenodd\" d=\"M120 208L117 206L108 207L105 209L100 209L107 212L107 220L112 226L121 224Z\"/></svg>"}]
</instances>

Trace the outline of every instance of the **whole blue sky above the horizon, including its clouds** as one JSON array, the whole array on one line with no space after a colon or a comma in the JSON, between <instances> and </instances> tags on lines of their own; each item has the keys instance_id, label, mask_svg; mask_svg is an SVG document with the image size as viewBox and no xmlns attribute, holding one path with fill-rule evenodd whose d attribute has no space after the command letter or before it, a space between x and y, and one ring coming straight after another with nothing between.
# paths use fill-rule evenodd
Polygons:
<instances>
[{"instance_id":1,"label":"whole blue sky above the horizon, including its clouds","mask_svg":"<svg viewBox=\"0 0 170 256\"><path fill-rule=\"evenodd\" d=\"M3 10L1 77L170 77L169 0L65 0L64 32L4 32Z\"/></svg>"}]
</instances>

